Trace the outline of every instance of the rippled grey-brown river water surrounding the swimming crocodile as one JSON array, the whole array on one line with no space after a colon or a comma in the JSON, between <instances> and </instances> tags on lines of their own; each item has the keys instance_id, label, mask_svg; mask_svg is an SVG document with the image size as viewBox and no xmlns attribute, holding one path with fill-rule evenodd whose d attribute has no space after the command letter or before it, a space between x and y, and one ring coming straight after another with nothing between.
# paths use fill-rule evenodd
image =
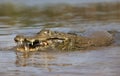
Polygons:
<instances>
[{"instance_id":1,"label":"rippled grey-brown river water surrounding the swimming crocodile","mask_svg":"<svg viewBox=\"0 0 120 76\"><path fill-rule=\"evenodd\" d=\"M33 52L22 58L11 49L17 34L34 34L39 27L5 27L0 25L0 76L119 76L120 75L120 24L82 23L54 27L57 31L107 30L117 31L114 44L88 50L70 52ZM32 30L32 31L31 31Z\"/></svg>"}]
</instances>

